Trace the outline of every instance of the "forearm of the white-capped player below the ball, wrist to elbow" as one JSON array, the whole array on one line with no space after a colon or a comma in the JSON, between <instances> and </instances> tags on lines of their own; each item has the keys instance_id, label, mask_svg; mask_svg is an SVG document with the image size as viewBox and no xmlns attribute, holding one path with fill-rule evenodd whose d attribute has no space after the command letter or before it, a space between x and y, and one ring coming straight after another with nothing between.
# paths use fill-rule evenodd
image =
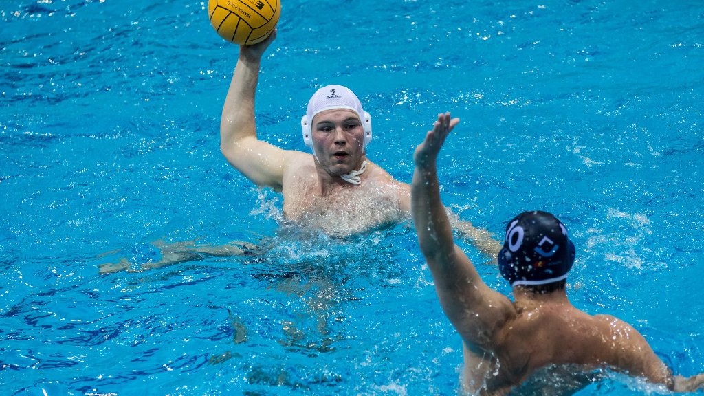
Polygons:
<instances>
[{"instance_id":1,"label":"forearm of the white-capped player below the ball, wrist to elbow","mask_svg":"<svg viewBox=\"0 0 704 396\"><path fill-rule=\"evenodd\" d=\"M260 58L240 51L230 89L220 120L220 149L225 153L243 137L256 138L254 95L259 76Z\"/></svg>"}]
</instances>

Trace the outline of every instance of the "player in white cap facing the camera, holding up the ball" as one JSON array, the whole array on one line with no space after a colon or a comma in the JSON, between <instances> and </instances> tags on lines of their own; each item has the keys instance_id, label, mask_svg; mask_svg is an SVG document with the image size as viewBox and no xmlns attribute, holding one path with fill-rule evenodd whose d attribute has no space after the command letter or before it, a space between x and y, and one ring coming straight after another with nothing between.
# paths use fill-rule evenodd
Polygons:
<instances>
[{"instance_id":1,"label":"player in white cap facing the camera, holding up the ball","mask_svg":"<svg viewBox=\"0 0 704 396\"><path fill-rule=\"evenodd\" d=\"M259 140L254 97L264 42L239 47L220 123L220 149L249 180L284 197L284 216L329 235L346 236L410 218L410 186L367 159L372 120L350 89L327 85L308 101L301 118L312 155ZM501 245L484 229L455 221L474 245L496 256Z\"/></svg>"}]
</instances>

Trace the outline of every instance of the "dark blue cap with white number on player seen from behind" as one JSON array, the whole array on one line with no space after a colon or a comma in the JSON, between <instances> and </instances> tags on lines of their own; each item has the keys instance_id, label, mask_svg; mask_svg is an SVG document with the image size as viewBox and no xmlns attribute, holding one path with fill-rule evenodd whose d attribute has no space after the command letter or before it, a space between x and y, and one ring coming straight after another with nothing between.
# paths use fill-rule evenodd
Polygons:
<instances>
[{"instance_id":1,"label":"dark blue cap with white number on player seen from behind","mask_svg":"<svg viewBox=\"0 0 704 396\"><path fill-rule=\"evenodd\" d=\"M528 211L506 226L498 268L511 286L544 285L565 279L572 263L574 245L555 216Z\"/></svg>"}]
</instances>

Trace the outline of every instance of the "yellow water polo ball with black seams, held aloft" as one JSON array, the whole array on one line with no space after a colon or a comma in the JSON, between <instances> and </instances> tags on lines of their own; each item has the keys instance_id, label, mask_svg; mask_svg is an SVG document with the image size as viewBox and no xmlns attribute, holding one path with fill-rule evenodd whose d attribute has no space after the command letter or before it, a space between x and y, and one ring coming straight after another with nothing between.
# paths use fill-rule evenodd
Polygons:
<instances>
[{"instance_id":1,"label":"yellow water polo ball with black seams, held aloft","mask_svg":"<svg viewBox=\"0 0 704 396\"><path fill-rule=\"evenodd\" d=\"M208 0L210 25L234 44L263 41L274 30L280 14L280 0Z\"/></svg>"}]
</instances>

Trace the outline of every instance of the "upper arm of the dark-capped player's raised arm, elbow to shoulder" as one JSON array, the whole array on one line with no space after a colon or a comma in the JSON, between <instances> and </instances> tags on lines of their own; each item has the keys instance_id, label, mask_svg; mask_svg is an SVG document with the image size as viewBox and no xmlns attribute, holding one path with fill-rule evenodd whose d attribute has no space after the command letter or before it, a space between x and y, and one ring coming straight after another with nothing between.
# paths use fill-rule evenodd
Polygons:
<instances>
[{"instance_id":1,"label":"upper arm of the dark-capped player's raised arm, elbow to shoulder","mask_svg":"<svg viewBox=\"0 0 704 396\"><path fill-rule=\"evenodd\" d=\"M440 304L465 342L490 349L491 339L515 309L508 297L491 289L469 257L455 245L448 254L427 256Z\"/></svg>"}]
</instances>

